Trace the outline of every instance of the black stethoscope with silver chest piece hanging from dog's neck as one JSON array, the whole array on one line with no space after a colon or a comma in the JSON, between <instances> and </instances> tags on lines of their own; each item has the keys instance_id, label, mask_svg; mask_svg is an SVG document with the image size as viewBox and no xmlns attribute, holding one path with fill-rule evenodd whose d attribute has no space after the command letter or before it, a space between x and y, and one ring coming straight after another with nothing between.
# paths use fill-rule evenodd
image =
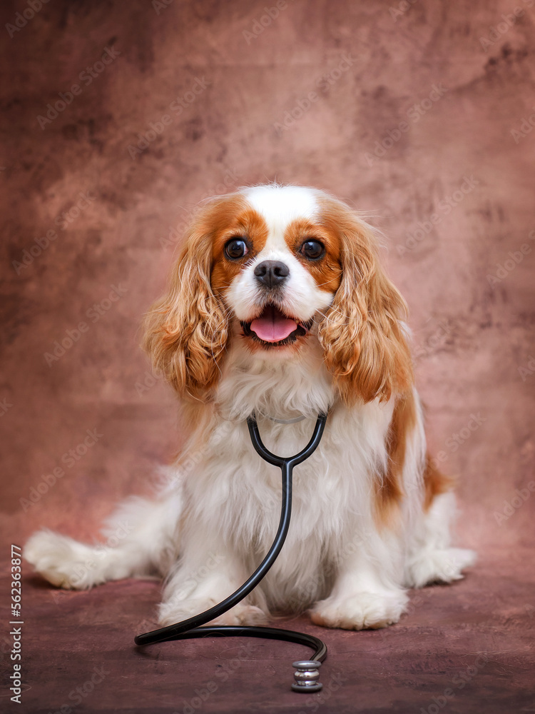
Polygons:
<instances>
[{"instance_id":1,"label":"black stethoscope with silver chest piece hanging from dog's neck","mask_svg":"<svg viewBox=\"0 0 535 714\"><path fill-rule=\"evenodd\" d=\"M278 421L278 420L277 420ZM288 423L292 421L290 420ZM272 463L274 466L280 466L280 471L282 472L282 506L280 511L280 521L279 528L277 530L277 535L275 535L275 540L265 556L264 560L258 568L255 570L253 575L250 576L248 580L243 583L243 585L238 588L232 595L223 600L219 605L214 605L210 610L206 610L204 613L195 615L193 618L188 618L188 620L183 620L181 623L175 623L174 625L168 625L167 627L160 628L159 630L152 630L152 632L146 632L143 635L137 635L134 638L136 645L152 645L156 642L164 642L167 640L187 640L191 638L198 637L263 637L270 638L272 640L285 640L286 642L295 642L300 645L307 645L314 650L312 659L310 660L299 660L292 663L295 668L294 678L295 681L292 683L292 690L295 692L317 692L322 688L322 684L318 682L320 677L319 668L323 660L327 657L327 645L325 645L322 640L313 635L307 635L305 633L295 632L294 630L281 630L279 628L272 627L252 627L252 626L233 626L233 625L218 625L217 627L201 627L210 620L214 620L223 615L227 610L233 608L237 605L240 600L243 600L253 588L260 583L260 580L264 578L267 571L271 568L273 563L280 553L282 545L286 540L286 535L288 533L288 528L290 526L290 517L292 515L292 472L294 466L302 463L309 456L314 453L317 446L319 445L323 431L325 429L325 422L327 421L327 414L320 414L317 417L316 426L314 428L314 433L312 438L307 443L302 451L296 453L295 456L277 456L271 451L265 448L262 439L260 438L260 433L258 431L258 423L256 417L248 417L247 426L249 427L249 433L251 441L255 450L262 456L267 463Z\"/></svg>"}]
</instances>

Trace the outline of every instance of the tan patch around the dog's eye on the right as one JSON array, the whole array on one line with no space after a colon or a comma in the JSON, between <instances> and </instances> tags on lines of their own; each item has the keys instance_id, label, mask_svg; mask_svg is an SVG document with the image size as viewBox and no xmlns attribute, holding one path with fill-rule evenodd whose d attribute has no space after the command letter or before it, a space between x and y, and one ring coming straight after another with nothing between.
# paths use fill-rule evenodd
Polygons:
<instances>
[{"instance_id":1,"label":"tan patch around the dog's eye on the right","mask_svg":"<svg viewBox=\"0 0 535 714\"><path fill-rule=\"evenodd\" d=\"M287 226L285 242L292 254L315 279L321 290L335 293L342 281L342 261L340 258L340 238L325 226L305 218L298 218ZM300 252L306 241L320 241L325 246L325 255L318 260L307 260Z\"/></svg>"}]
</instances>

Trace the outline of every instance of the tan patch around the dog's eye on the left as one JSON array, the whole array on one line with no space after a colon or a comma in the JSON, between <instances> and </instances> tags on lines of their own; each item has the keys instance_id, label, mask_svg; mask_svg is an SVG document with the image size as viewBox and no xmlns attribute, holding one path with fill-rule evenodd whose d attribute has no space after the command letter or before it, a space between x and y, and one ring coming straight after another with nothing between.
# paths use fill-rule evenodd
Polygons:
<instances>
[{"instance_id":1,"label":"tan patch around the dog's eye on the left","mask_svg":"<svg viewBox=\"0 0 535 714\"><path fill-rule=\"evenodd\" d=\"M225 211L217 216L211 230L213 267L210 283L215 295L222 297L234 278L263 249L268 230L262 216L250 208L242 197L225 207ZM231 238L242 238L247 243L247 255L237 260L231 260L225 255L225 245Z\"/></svg>"}]
</instances>

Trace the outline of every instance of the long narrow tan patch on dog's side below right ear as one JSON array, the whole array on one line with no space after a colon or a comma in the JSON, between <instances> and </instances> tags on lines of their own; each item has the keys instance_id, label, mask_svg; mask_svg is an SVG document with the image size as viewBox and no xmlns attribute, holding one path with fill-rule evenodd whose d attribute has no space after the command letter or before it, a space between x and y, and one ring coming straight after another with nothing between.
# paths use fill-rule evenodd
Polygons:
<instances>
[{"instance_id":1,"label":"long narrow tan patch on dog's side below right ear","mask_svg":"<svg viewBox=\"0 0 535 714\"><path fill-rule=\"evenodd\" d=\"M388 468L375 488L375 520L379 526L393 526L399 516L403 492L403 465L407 438L416 426L416 404L411 393L399 397L387 435Z\"/></svg>"}]
</instances>

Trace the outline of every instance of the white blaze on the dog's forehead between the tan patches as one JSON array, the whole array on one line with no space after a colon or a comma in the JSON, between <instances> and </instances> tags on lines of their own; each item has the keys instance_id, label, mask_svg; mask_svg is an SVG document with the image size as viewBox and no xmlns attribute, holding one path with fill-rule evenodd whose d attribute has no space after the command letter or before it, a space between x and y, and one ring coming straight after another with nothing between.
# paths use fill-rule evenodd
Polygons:
<instances>
[{"instance_id":1,"label":"white blaze on the dog's forehead between the tan patches","mask_svg":"<svg viewBox=\"0 0 535 714\"><path fill-rule=\"evenodd\" d=\"M317 217L315 191L302 186L253 186L245 190L248 203L267 223L269 236L265 249L287 248L284 233L292 221ZM265 252L262 251L263 253Z\"/></svg>"}]
</instances>

